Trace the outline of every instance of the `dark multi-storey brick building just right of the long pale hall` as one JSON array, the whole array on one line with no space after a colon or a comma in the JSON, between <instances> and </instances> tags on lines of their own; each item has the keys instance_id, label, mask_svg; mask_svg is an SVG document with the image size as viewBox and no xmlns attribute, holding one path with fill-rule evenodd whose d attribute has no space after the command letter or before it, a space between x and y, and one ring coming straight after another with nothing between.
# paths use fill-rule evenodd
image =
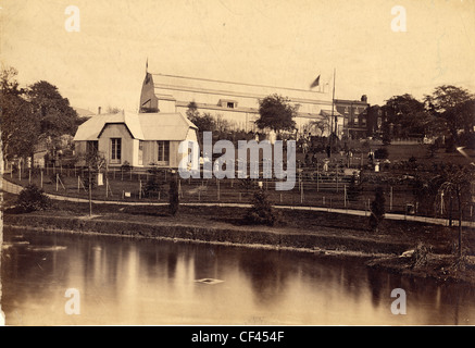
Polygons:
<instances>
[{"instance_id":1,"label":"dark multi-storey brick building just right of the long pale hall","mask_svg":"<svg viewBox=\"0 0 475 348\"><path fill-rule=\"evenodd\" d=\"M361 100L335 99L336 110L345 116L345 135L352 139L367 136L367 103L366 96Z\"/></svg>"}]
</instances>

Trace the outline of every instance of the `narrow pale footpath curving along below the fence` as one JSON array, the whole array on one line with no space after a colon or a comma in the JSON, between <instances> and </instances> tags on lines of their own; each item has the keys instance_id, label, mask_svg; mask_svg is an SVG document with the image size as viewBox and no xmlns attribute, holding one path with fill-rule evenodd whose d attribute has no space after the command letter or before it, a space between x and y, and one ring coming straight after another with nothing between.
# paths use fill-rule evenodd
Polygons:
<instances>
[{"instance_id":1,"label":"narrow pale footpath curving along below the fence","mask_svg":"<svg viewBox=\"0 0 475 348\"><path fill-rule=\"evenodd\" d=\"M22 186L10 183L5 179L2 182L3 190L9 194L17 195L23 189ZM49 198L54 200L65 200L72 202L80 202L88 203L89 200L85 198L74 198L74 197L65 197L60 195L51 195L47 194ZM92 199L92 203L95 204L117 204L117 206L167 206L166 202L122 202L122 201L109 201L109 200L97 200ZM180 203L182 206L195 206L195 207L235 207L235 208L249 208L251 204L246 203L204 203L204 202L196 202L196 203ZM287 210L309 210L309 211L323 211L323 212L333 212L339 214L349 214L349 215L359 215L359 216L367 216L368 212L364 210L354 210L354 209L336 209L336 208L322 208L322 207L301 207L301 206L274 206L276 209L287 209ZM385 219L390 220L407 220L407 221L416 221L429 224L437 225L448 225L447 219L438 219L438 217L428 217L428 216L416 216L416 215L403 215L403 214L395 214L395 213L386 213ZM459 222L457 220L452 221L454 226L458 226ZM462 226L466 227L475 227L474 221L463 221Z\"/></svg>"}]
</instances>

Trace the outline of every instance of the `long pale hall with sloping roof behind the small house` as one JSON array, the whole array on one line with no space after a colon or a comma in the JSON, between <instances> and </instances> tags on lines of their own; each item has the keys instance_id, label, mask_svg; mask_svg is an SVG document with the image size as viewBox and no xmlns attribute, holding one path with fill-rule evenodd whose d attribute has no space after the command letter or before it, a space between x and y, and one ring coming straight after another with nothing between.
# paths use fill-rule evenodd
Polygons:
<instances>
[{"instance_id":1,"label":"long pale hall with sloping roof behind the small house","mask_svg":"<svg viewBox=\"0 0 475 348\"><path fill-rule=\"evenodd\" d=\"M143 79L140 112L179 112L185 115L189 103L193 101L201 114L210 113L215 120L225 120L235 130L254 132L259 100L274 94L287 97L290 104L298 105L295 121L300 132L309 123L320 121L325 113L332 112L328 91L150 73ZM335 115L338 116L336 110ZM341 115L338 123L342 124Z\"/></svg>"}]
</instances>

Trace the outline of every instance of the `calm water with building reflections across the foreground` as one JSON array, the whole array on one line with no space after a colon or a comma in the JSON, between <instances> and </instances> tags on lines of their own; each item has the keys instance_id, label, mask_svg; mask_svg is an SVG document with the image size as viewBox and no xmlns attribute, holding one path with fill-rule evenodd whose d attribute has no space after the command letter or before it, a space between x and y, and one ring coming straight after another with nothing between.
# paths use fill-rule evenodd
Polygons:
<instances>
[{"instance_id":1,"label":"calm water with building reflections across the foreground","mask_svg":"<svg viewBox=\"0 0 475 348\"><path fill-rule=\"evenodd\" d=\"M5 228L1 266L8 325L475 324L474 287L307 252Z\"/></svg>"}]
</instances>

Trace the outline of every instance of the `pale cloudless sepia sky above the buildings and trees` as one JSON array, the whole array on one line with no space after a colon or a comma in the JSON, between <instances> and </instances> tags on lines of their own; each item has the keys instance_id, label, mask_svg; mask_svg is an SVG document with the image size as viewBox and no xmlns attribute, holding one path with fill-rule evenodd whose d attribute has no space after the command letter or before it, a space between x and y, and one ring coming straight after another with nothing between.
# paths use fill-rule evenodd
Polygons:
<instances>
[{"instance_id":1,"label":"pale cloudless sepia sky above the buildings and trees","mask_svg":"<svg viewBox=\"0 0 475 348\"><path fill-rule=\"evenodd\" d=\"M78 32L66 30L75 5ZM405 12L392 12L393 7ZM475 92L475 0L0 0L0 58L76 108L138 109L152 73L309 89L383 104ZM75 12L77 15L77 13ZM392 24L392 26L391 26ZM405 32L395 30L403 28ZM395 26L396 25L396 26Z\"/></svg>"}]
</instances>

